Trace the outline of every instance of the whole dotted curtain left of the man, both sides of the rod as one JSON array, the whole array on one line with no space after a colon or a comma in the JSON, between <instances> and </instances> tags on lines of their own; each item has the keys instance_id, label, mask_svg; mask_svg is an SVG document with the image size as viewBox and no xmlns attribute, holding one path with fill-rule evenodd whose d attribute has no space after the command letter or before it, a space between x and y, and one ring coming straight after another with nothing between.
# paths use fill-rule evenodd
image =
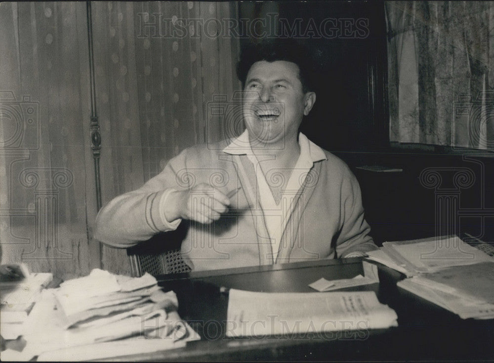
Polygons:
<instances>
[{"instance_id":1,"label":"whole dotted curtain left of the man, both sides of the rod","mask_svg":"<svg viewBox=\"0 0 494 363\"><path fill-rule=\"evenodd\" d=\"M201 24L236 19L236 8L230 2L92 2L103 204L142 185L183 148L224 136L208 105L239 87L238 39L219 34L214 27L221 22L209 21L207 32ZM194 29L163 32L167 21L188 19L196 19ZM97 211L86 4L2 3L0 45L9 49L0 53L2 262L23 260L62 278L94 267L129 272L123 250L92 238Z\"/></svg>"}]
</instances>

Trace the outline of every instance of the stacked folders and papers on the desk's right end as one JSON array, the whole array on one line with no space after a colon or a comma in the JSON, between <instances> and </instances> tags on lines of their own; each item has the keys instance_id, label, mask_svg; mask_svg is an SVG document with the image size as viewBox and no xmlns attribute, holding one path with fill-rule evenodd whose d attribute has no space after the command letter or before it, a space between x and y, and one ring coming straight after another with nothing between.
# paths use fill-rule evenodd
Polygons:
<instances>
[{"instance_id":1,"label":"stacked folders and papers on the desk's right end","mask_svg":"<svg viewBox=\"0 0 494 363\"><path fill-rule=\"evenodd\" d=\"M457 236L384 242L368 255L407 275L399 287L460 318L494 318L494 258Z\"/></svg>"}]
</instances>

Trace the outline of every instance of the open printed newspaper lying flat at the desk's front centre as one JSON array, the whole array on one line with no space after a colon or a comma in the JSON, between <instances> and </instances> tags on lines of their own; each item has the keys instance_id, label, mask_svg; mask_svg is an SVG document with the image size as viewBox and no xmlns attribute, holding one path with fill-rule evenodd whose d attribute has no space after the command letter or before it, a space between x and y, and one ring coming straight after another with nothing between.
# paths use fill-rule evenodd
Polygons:
<instances>
[{"instance_id":1,"label":"open printed newspaper lying flat at the desk's front centre","mask_svg":"<svg viewBox=\"0 0 494 363\"><path fill-rule=\"evenodd\" d=\"M306 334L397 326L373 291L269 293L232 289L226 335Z\"/></svg>"}]
</instances>

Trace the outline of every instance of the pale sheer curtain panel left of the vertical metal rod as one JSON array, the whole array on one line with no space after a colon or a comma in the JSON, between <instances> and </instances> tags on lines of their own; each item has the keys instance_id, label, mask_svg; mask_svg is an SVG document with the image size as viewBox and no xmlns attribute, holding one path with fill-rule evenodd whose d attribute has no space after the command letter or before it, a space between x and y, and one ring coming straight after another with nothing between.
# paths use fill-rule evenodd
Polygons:
<instances>
[{"instance_id":1,"label":"pale sheer curtain panel left of the vertical metal rod","mask_svg":"<svg viewBox=\"0 0 494 363\"><path fill-rule=\"evenodd\" d=\"M0 4L2 263L63 278L94 266L86 29L84 3Z\"/></svg>"}]
</instances>

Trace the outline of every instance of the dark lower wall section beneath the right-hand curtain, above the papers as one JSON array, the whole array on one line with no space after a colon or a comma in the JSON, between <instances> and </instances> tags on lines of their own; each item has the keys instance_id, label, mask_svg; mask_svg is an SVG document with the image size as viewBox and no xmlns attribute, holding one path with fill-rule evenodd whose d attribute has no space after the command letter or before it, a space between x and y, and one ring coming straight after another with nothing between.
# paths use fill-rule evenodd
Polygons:
<instances>
[{"instance_id":1,"label":"dark lower wall section beneath the right-hand curtain, above the papers","mask_svg":"<svg viewBox=\"0 0 494 363\"><path fill-rule=\"evenodd\" d=\"M396 151L336 154L360 182L366 219L377 244L463 232L494 242L492 156ZM403 171L357 168L363 165Z\"/></svg>"}]
</instances>

